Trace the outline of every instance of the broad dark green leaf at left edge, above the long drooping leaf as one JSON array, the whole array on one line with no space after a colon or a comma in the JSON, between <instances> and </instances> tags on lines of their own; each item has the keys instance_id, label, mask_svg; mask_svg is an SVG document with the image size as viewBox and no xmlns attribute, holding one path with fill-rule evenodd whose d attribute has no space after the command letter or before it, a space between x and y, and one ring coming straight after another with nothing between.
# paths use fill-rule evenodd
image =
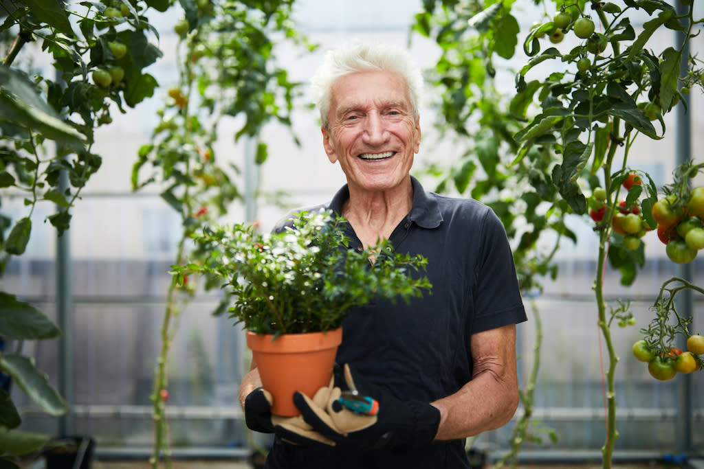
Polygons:
<instances>
[{"instance_id":1,"label":"broad dark green leaf at left edge, above the long drooping leaf","mask_svg":"<svg viewBox=\"0 0 704 469\"><path fill-rule=\"evenodd\" d=\"M42 311L6 292L0 292L0 331L4 338L13 340L61 337L61 329Z\"/></svg>"}]
</instances>

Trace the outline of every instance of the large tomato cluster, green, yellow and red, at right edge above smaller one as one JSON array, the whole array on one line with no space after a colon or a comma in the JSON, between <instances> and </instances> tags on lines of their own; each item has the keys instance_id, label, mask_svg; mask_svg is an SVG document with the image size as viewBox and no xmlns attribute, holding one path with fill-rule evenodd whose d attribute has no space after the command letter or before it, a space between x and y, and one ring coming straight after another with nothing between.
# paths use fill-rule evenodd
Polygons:
<instances>
[{"instance_id":1,"label":"large tomato cluster, green, yellow and red, at right edge above smaller one","mask_svg":"<svg viewBox=\"0 0 704 469\"><path fill-rule=\"evenodd\" d=\"M667 257L688 264L704 249L704 186L680 197L670 194L653 205L658 238L667 245Z\"/></svg>"}]
</instances>

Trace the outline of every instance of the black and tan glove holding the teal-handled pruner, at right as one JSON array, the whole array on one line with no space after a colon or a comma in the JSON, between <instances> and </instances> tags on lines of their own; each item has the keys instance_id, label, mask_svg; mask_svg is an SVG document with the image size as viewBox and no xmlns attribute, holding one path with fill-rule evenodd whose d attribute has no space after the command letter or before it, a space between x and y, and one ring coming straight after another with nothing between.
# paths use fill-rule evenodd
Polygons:
<instances>
[{"instance_id":1,"label":"black and tan glove holding the teal-handled pruner, at right","mask_svg":"<svg viewBox=\"0 0 704 469\"><path fill-rule=\"evenodd\" d=\"M379 405L378 413L355 413L343 406L339 397L341 387L334 387L321 399L310 399L296 392L294 403L301 416L323 437L332 440L340 449L411 449L433 441L440 425L440 411L422 401L403 401L381 387L353 378L348 365L336 369L337 383L345 390L357 391L372 397ZM318 397L318 394L316 394Z\"/></svg>"}]
</instances>

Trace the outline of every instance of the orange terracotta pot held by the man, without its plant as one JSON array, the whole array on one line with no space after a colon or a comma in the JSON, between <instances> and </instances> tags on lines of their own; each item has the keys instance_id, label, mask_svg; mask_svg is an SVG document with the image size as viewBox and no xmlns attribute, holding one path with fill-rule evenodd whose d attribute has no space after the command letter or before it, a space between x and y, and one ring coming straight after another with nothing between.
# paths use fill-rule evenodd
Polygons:
<instances>
[{"instance_id":1,"label":"orange terracotta pot held by the man, without its plant","mask_svg":"<svg viewBox=\"0 0 704 469\"><path fill-rule=\"evenodd\" d=\"M247 347L256 361L262 386L274 397L272 413L297 416L294 392L313 397L332 377L342 328L325 333L273 335L247 331Z\"/></svg>"}]
</instances>

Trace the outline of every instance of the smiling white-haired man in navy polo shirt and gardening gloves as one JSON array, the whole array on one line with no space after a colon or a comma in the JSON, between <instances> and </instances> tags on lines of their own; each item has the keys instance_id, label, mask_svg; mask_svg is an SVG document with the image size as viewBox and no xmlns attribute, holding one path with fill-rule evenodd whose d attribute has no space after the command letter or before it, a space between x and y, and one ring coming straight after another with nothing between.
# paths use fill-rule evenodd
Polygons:
<instances>
[{"instance_id":1,"label":"smiling white-haired man in navy polo shirt and gardening gloves","mask_svg":"<svg viewBox=\"0 0 704 469\"><path fill-rule=\"evenodd\" d=\"M321 207L349 221L349 249L382 237L427 257L432 294L368 304L344 323L338 383L376 399L375 416L350 423L297 394L298 423L272 417L253 364L240 388L247 424L276 434L267 468L467 468L464 439L505 425L518 404L526 316L503 226L410 175L422 77L404 51L353 42L327 53L313 85L325 153L347 180Z\"/></svg>"}]
</instances>

